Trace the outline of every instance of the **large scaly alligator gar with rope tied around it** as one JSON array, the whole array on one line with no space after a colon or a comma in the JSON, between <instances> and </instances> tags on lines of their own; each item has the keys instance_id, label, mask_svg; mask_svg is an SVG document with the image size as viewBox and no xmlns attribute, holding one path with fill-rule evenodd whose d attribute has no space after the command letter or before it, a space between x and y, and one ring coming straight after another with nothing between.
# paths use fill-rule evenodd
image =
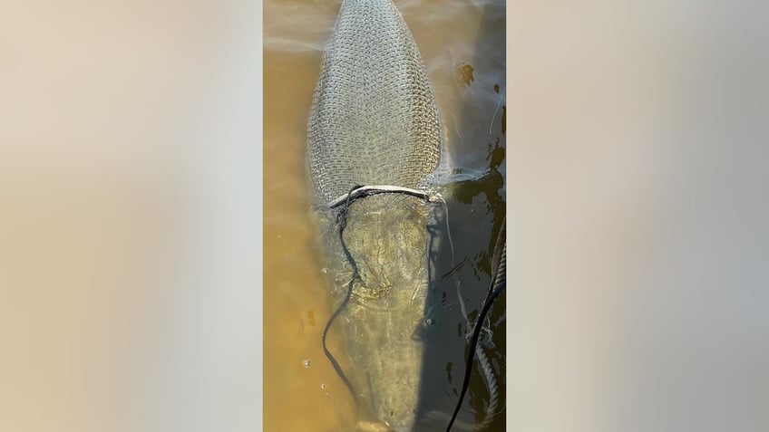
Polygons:
<instances>
[{"instance_id":1,"label":"large scaly alligator gar with rope tied around it","mask_svg":"<svg viewBox=\"0 0 769 432\"><path fill-rule=\"evenodd\" d=\"M321 63L307 125L317 204L356 185L431 186L443 134L414 37L391 0L344 0ZM346 212L358 278L339 322L355 397L395 432L414 427L428 287L430 207L403 195L367 197ZM318 212L336 304L353 268L333 212Z\"/></svg>"}]
</instances>

